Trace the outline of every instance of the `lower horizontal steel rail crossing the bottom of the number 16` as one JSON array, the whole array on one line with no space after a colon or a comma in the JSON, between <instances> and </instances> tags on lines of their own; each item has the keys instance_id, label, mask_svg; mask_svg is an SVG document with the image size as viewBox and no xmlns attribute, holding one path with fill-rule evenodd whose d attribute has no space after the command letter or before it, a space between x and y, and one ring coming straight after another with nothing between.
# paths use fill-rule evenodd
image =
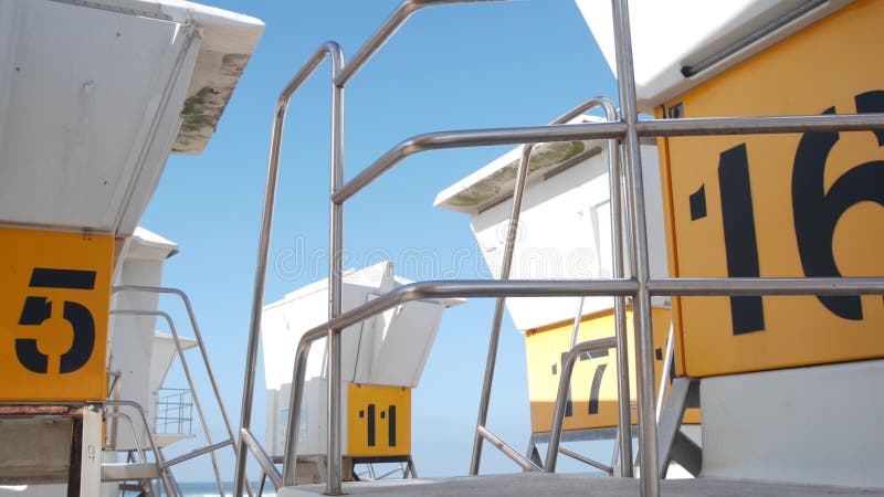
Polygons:
<instances>
[{"instance_id":1,"label":"lower horizontal steel rail crossing the bottom of the number 16","mask_svg":"<svg viewBox=\"0 0 884 497\"><path fill-rule=\"evenodd\" d=\"M884 277L867 278L651 278L652 295L881 295Z\"/></svg>"}]
</instances>

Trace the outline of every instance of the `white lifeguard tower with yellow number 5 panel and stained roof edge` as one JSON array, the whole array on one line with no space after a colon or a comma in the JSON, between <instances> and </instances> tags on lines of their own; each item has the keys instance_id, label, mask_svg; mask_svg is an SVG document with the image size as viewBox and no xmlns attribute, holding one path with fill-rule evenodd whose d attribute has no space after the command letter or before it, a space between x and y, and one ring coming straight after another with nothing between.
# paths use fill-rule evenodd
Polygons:
<instances>
[{"instance_id":1,"label":"white lifeguard tower with yellow number 5 panel and stained roof edge","mask_svg":"<svg viewBox=\"0 0 884 497\"><path fill-rule=\"evenodd\" d=\"M0 484L180 494L148 414L177 247L137 224L169 156L202 152L262 31L183 1L2 1Z\"/></svg>"}]
</instances>

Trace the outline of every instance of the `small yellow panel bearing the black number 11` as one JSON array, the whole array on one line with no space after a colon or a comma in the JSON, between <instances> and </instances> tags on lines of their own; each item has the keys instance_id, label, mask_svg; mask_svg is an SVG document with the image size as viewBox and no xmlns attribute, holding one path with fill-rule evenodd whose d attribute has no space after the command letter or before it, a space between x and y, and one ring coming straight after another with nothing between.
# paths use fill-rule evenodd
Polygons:
<instances>
[{"instance_id":1,"label":"small yellow panel bearing the black number 11","mask_svg":"<svg viewBox=\"0 0 884 497\"><path fill-rule=\"evenodd\" d=\"M411 454L411 389L350 384L347 389L347 455Z\"/></svg>"}]
</instances>

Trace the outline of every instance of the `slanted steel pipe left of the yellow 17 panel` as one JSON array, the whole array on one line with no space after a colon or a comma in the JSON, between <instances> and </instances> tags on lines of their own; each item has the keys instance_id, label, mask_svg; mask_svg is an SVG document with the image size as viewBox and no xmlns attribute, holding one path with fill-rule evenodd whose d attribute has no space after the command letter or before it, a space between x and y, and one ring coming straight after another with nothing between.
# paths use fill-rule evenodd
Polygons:
<instances>
[{"instance_id":1,"label":"slanted steel pipe left of the yellow 17 panel","mask_svg":"<svg viewBox=\"0 0 884 497\"><path fill-rule=\"evenodd\" d=\"M516 170L516 184L513 189L513 209L509 213L509 226L506 230L506 244L504 245L504 257L501 263L499 279L509 279L509 269L513 265L513 250L516 244L518 233L518 218L522 214L522 199L525 194L525 180L528 177L528 162L530 161L534 145L525 145L522 148L522 160ZM506 298L498 297L494 305L494 319L491 325L491 337L488 338L488 355L485 359L485 377L482 380L482 398L478 401L478 415L476 416L476 431L473 435L473 456L470 461L470 474L477 475L478 466L482 462L482 444L484 438L480 432L488 420L488 405L491 404L491 387L494 383L494 367L497 362L497 346L501 342L501 324L504 318L504 305Z\"/></svg>"}]
</instances>

